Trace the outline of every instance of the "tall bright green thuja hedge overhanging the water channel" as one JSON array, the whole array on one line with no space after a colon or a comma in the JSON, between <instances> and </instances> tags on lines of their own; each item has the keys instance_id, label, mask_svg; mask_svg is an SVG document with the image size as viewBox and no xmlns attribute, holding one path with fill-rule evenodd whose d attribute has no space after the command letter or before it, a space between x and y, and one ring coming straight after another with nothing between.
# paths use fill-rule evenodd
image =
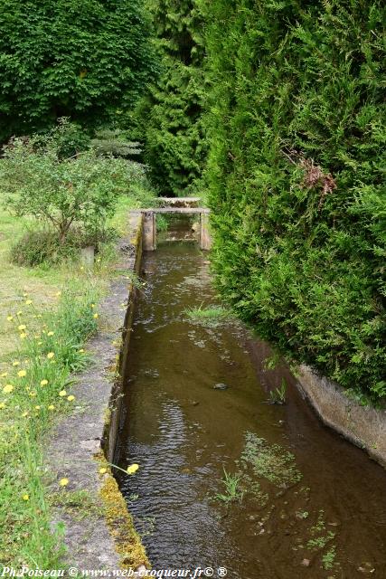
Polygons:
<instances>
[{"instance_id":1,"label":"tall bright green thuja hedge overhanging the water channel","mask_svg":"<svg viewBox=\"0 0 386 579\"><path fill-rule=\"evenodd\" d=\"M202 1L213 261L262 337L380 400L383 3Z\"/></svg>"}]
</instances>

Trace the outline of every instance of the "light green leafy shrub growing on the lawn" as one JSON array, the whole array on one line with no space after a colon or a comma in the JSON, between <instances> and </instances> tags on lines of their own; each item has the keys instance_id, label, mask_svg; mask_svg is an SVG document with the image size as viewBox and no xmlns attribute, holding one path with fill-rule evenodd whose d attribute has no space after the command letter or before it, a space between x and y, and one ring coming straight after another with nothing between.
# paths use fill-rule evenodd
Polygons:
<instances>
[{"instance_id":1,"label":"light green leafy shrub growing on the lawn","mask_svg":"<svg viewBox=\"0 0 386 579\"><path fill-rule=\"evenodd\" d=\"M65 244L74 227L98 241L127 191L130 171L123 159L98 157L93 149L61 157L64 122L47 138L14 139L0 161L0 192L17 215L49 224Z\"/></svg>"}]
</instances>

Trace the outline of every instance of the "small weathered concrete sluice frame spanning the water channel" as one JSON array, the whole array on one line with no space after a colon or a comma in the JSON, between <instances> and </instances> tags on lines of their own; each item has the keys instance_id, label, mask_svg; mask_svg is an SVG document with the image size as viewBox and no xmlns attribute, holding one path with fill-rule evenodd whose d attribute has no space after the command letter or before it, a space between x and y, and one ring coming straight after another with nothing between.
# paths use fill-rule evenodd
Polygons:
<instances>
[{"instance_id":1,"label":"small weathered concrete sluice frame spanning the water channel","mask_svg":"<svg viewBox=\"0 0 386 579\"><path fill-rule=\"evenodd\" d=\"M156 214L199 214L200 215L200 248L211 249L209 233L210 209L200 207L199 197L160 197L161 206L151 209L140 209L144 216L143 248L146 252L156 250Z\"/></svg>"}]
</instances>

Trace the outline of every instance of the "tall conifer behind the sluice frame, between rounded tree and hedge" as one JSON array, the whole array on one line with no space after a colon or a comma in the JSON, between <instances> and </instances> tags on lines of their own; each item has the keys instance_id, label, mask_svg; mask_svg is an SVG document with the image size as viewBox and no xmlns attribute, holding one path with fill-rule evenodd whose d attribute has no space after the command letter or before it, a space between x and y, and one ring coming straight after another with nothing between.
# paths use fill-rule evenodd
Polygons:
<instances>
[{"instance_id":1,"label":"tall conifer behind the sluice frame, between rounded tree and hedge","mask_svg":"<svg viewBox=\"0 0 386 579\"><path fill-rule=\"evenodd\" d=\"M142 102L146 162L164 195L185 195L202 174L202 20L195 0L148 0L162 67Z\"/></svg>"}]
</instances>

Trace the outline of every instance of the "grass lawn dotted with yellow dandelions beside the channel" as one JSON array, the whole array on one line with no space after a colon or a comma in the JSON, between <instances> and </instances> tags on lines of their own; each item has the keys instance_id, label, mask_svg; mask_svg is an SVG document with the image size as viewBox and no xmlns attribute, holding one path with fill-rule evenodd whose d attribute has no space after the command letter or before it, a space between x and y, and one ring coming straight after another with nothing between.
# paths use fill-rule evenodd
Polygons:
<instances>
[{"instance_id":1,"label":"grass lawn dotted with yellow dandelions beside the channel","mask_svg":"<svg viewBox=\"0 0 386 579\"><path fill-rule=\"evenodd\" d=\"M138 204L122 198L110 224L124 233L127 212ZM71 412L71 376L88 363L85 344L98 330L98 302L114 275L111 248L93 271L80 262L14 265L12 244L32 225L0 211L0 569L61 566L62 529L52 534L42 437L55 414Z\"/></svg>"}]
</instances>

